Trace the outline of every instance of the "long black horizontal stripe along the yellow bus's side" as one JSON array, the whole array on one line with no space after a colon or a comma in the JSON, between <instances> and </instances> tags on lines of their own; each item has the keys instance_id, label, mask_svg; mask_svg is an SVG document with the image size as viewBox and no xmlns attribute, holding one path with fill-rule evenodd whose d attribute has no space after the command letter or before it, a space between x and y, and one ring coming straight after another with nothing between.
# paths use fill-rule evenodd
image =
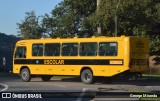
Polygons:
<instances>
[{"instance_id":1,"label":"long black horizontal stripe along the yellow bus's side","mask_svg":"<svg viewBox=\"0 0 160 101\"><path fill-rule=\"evenodd\" d=\"M53 61L54 62L53 62ZM45 63L51 61L52 63ZM64 61L64 63L60 63ZM120 63L110 63L120 61ZM41 65L123 65L123 59L15 59L14 64L41 64Z\"/></svg>"}]
</instances>

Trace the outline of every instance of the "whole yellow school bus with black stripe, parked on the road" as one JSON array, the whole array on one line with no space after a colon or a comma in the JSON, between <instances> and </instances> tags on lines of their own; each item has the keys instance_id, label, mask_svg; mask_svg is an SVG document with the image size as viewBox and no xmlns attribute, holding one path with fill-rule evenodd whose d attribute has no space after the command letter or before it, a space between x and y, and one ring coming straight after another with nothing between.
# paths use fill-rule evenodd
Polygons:
<instances>
[{"instance_id":1,"label":"whole yellow school bus with black stripe, parked on the road","mask_svg":"<svg viewBox=\"0 0 160 101\"><path fill-rule=\"evenodd\" d=\"M25 82L34 75L43 81L52 76L80 76L90 84L96 77L149 70L149 41L145 37L41 38L16 43L13 73ZM104 79L103 79L104 80Z\"/></svg>"}]
</instances>

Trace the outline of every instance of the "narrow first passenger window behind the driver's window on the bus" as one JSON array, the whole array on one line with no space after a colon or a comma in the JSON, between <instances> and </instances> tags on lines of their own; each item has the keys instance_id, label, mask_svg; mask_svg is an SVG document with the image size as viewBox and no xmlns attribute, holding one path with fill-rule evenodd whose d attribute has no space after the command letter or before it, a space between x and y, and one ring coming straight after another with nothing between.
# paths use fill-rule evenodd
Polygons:
<instances>
[{"instance_id":1,"label":"narrow first passenger window behind the driver's window on the bus","mask_svg":"<svg viewBox=\"0 0 160 101\"><path fill-rule=\"evenodd\" d=\"M43 56L43 44L32 45L32 56Z\"/></svg>"}]
</instances>

